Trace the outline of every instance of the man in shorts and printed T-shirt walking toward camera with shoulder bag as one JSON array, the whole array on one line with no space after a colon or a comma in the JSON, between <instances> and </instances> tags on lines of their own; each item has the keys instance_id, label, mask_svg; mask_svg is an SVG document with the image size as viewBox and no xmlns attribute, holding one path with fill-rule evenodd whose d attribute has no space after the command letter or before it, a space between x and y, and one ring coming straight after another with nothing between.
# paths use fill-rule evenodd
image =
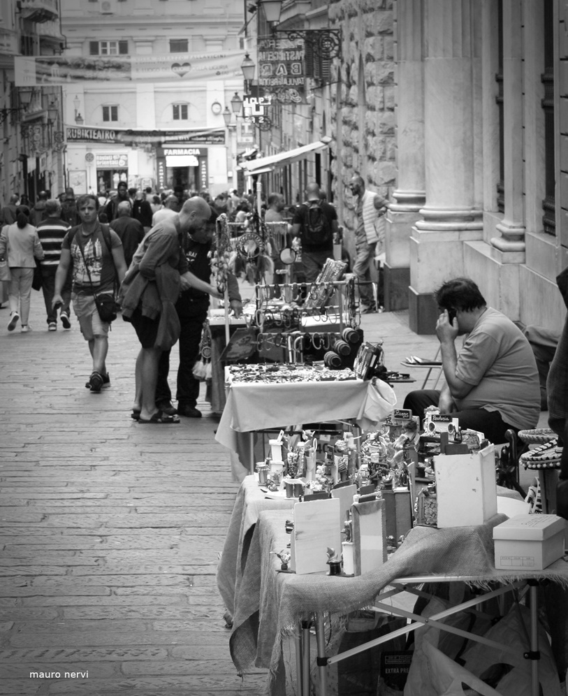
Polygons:
<instances>
[{"instance_id":1,"label":"man in shorts and printed T-shirt walking toward camera with shoulder bag","mask_svg":"<svg viewBox=\"0 0 568 696\"><path fill-rule=\"evenodd\" d=\"M115 282L122 283L126 274L126 263L119 236L106 225L103 229L99 222L99 199L93 194L81 196L77 201L77 208L81 224L73 227L61 244L52 306L57 307L63 303L61 291L67 272L73 265L73 311L79 320L83 337L89 342L93 359L93 371L86 386L98 393L103 386L110 386L105 362L110 324L99 317L94 296L114 293Z\"/></svg>"}]
</instances>

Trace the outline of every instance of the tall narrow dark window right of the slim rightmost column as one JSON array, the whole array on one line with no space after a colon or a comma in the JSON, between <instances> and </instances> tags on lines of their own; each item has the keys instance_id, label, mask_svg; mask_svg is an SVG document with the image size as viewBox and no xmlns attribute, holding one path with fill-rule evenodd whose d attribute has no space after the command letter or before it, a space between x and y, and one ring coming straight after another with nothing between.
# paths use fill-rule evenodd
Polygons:
<instances>
[{"instance_id":1,"label":"tall narrow dark window right of the slim rightmost column","mask_svg":"<svg viewBox=\"0 0 568 696\"><path fill-rule=\"evenodd\" d=\"M556 233L555 215L555 152L554 152L554 8L553 0L544 0L544 201L543 230Z\"/></svg>"}]
</instances>

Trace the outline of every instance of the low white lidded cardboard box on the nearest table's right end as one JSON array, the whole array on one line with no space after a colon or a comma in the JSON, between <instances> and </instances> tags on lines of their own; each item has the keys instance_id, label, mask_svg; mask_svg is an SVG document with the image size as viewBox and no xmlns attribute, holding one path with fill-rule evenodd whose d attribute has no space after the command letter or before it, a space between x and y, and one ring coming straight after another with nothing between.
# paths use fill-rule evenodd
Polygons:
<instances>
[{"instance_id":1,"label":"low white lidded cardboard box on the nearest table's right end","mask_svg":"<svg viewBox=\"0 0 568 696\"><path fill-rule=\"evenodd\" d=\"M556 515L517 515L497 525L495 567L544 570L564 555L565 523Z\"/></svg>"}]
</instances>

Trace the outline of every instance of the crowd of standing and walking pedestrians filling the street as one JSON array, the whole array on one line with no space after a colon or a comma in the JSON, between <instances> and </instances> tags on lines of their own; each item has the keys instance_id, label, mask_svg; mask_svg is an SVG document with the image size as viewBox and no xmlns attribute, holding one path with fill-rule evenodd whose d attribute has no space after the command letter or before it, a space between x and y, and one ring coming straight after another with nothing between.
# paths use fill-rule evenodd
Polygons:
<instances>
[{"instance_id":1,"label":"crowd of standing and walking pedestrians filling the street","mask_svg":"<svg viewBox=\"0 0 568 696\"><path fill-rule=\"evenodd\" d=\"M378 194L365 197L363 180L351 190L363 206L357 210L355 268L361 268L361 279L368 280L379 240L375 231L379 215L372 219L370 210L382 214L388 203ZM100 393L110 386L106 364L110 322L122 310L122 318L132 324L140 342L133 419L174 423L180 414L199 417L199 380L193 368L210 297L220 298L210 282L215 221L225 214L243 233L254 224L257 212L254 196L239 195L236 189L211 196L208 191L176 187L158 195L150 188L140 191L119 181L109 194L75 196L67 188L52 198L50 191L41 191L34 205L26 196L14 194L0 209L0 279L4 281L0 282L0 307L8 300L8 331L15 331L18 324L22 333L30 331L32 287L43 293L48 331L59 326L70 329L73 307L92 359L85 386ZM302 249L298 280L313 282L326 259L333 259L339 233L337 212L318 184L308 184L305 201L288 208L282 193L263 196L261 219L288 223L289 244ZM360 294L361 302L367 303L363 311L372 311L372 300L363 289ZM231 273L228 302L240 315L238 282ZM168 375L176 342L180 362L174 406Z\"/></svg>"}]
</instances>

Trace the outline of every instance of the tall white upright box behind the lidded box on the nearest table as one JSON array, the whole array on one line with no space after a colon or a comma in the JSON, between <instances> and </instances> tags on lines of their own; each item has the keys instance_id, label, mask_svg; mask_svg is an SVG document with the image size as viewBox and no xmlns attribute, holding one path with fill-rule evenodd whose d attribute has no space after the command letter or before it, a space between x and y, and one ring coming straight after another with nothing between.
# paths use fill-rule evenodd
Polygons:
<instances>
[{"instance_id":1,"label":"tall white upright box behind the lidded box on the nearest table","mask_svg":"<svg viewBox=\"0 0 568 696\"><path fill-rule=\"evenodd\" d=\"M482 525L497 514L495 447L434 458L438 528Z\"/></svg>"}]
</instances>

